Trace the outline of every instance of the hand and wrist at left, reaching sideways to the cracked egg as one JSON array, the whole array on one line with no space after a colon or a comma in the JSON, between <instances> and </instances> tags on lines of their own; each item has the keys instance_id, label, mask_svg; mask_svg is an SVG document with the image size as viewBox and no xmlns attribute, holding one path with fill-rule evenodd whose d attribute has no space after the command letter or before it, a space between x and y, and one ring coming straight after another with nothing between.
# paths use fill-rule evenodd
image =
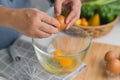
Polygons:
<instances>
[{"instance_id":1,"label":"hand and wrist at left, reaching sideways to the cracked egg","mask_svg":"<svg viewBox=\"0 0 120 80\"><path fill-rule=\"evenodd\" d=\"M58 32L59 22L36 8L12 9L9 24L16 31L33 38L46 38Z\"/></svg>"}]
</instances>

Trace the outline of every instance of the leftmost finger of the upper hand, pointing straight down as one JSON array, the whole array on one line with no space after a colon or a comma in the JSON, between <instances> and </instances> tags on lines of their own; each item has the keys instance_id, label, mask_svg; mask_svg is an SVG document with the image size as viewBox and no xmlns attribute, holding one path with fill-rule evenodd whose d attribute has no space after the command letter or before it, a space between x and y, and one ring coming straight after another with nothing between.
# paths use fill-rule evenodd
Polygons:
<instances>
[{"instance_id":1,"label":"leftmost finger of the upper hand, pointing straight down","mask_svg":"<svg viewBox=\"0 0 120 80\"><path fill-rule=\"evenodd\" d=\"M56 0L55 1L55 15L59 16L61 14L61 9L62 9L62 2L63 0Z\"/></svg>"}]
</instances>

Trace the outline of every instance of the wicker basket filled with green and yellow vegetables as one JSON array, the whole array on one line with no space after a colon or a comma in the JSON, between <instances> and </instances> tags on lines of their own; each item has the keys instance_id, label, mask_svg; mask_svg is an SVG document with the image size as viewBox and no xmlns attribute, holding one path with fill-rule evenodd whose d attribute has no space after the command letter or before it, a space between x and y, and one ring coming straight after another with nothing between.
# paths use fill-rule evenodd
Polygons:
<instances>
[{"instance_id":1,"label":"wicker basket filled with green and yellow vegetables","mask_svg":"<svg viewBox=\"0 0 120 80\"><path fill-rule=\"evenodd\" d=\"M88 21L88 24L90 24L90 19L88 18L88 16L90 17L90 15L92 14L92 13L90 13L91 11L94 11L94 15L96 13L98 13L100 15L100 17L99 17L100 24L99 25L94 25L94 26L91 24L85 25L85 26L82 24L77 25L78 27L80 27L83 30L85 30L86 32L88 32L88 34L92 38L98 38L98 37L102 37L102 36L108 34L112 30L112 28L115 26L117 21L119 20L119 15L120 15L120 7L119 7L120 1L119 0L108 0L108 1L107 0L82 0L82 3L84 5L84 10L82 8L83 12L81 11L80 18L82 18L82 17L86 18ZM92 7L91 6L85 7L86 4L91 5ZM107 5L107 8L106 8L106 5ZM104 6L104 8L103 8L103 6ZM95 9L92 9L92 8L95 8ZM107 21L108 19L111 19L111 16L113 16L111 13L114 13L115 16L112 20ZM92 17L94 15L92 15ZM98 23L98 18L97 18L97 20L94 19L94 21L92 21L92 22L94 22L95 24Z\"/></svg>"}]
</instances>

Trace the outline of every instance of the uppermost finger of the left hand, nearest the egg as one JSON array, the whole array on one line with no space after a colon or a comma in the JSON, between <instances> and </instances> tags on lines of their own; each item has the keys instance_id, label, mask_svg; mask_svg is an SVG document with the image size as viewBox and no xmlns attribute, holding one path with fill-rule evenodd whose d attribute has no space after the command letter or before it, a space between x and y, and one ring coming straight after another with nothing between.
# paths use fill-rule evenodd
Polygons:
<instances>
[{"instance_id":1,"label":"uppermost finger of the left hand, nearest the egg","mask_svg":"<svg viewBox=\"0 0 120 80\"><path fill-rule=\"evenodd\" d=\"M42 21L47 23L47 24L50 24L54 27L59 27L60 26L60 23L57 21L57 19L55 19L53 17L50 17L47 14L43 14Z\"/></svg>"}]
</instances>

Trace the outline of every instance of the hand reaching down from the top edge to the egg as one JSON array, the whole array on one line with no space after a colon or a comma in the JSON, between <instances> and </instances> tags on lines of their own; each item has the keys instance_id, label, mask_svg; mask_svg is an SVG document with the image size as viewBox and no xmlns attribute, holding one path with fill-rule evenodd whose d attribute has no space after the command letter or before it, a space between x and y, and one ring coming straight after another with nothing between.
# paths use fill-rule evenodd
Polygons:
<instances>
[{"instance_id":1,"label":"hand reaching down from the top edge to the egg","mask_svg":"<svg viewBox=\"0 0 120 80\"><path fill-rule=\"evenodd\" d=\"M62 7L64 6L70 9L70 13L66 19L68 29L80 16L81 2L80 0L55 0L56 16L61 14Z\"/></svg>"}]
</instances>

